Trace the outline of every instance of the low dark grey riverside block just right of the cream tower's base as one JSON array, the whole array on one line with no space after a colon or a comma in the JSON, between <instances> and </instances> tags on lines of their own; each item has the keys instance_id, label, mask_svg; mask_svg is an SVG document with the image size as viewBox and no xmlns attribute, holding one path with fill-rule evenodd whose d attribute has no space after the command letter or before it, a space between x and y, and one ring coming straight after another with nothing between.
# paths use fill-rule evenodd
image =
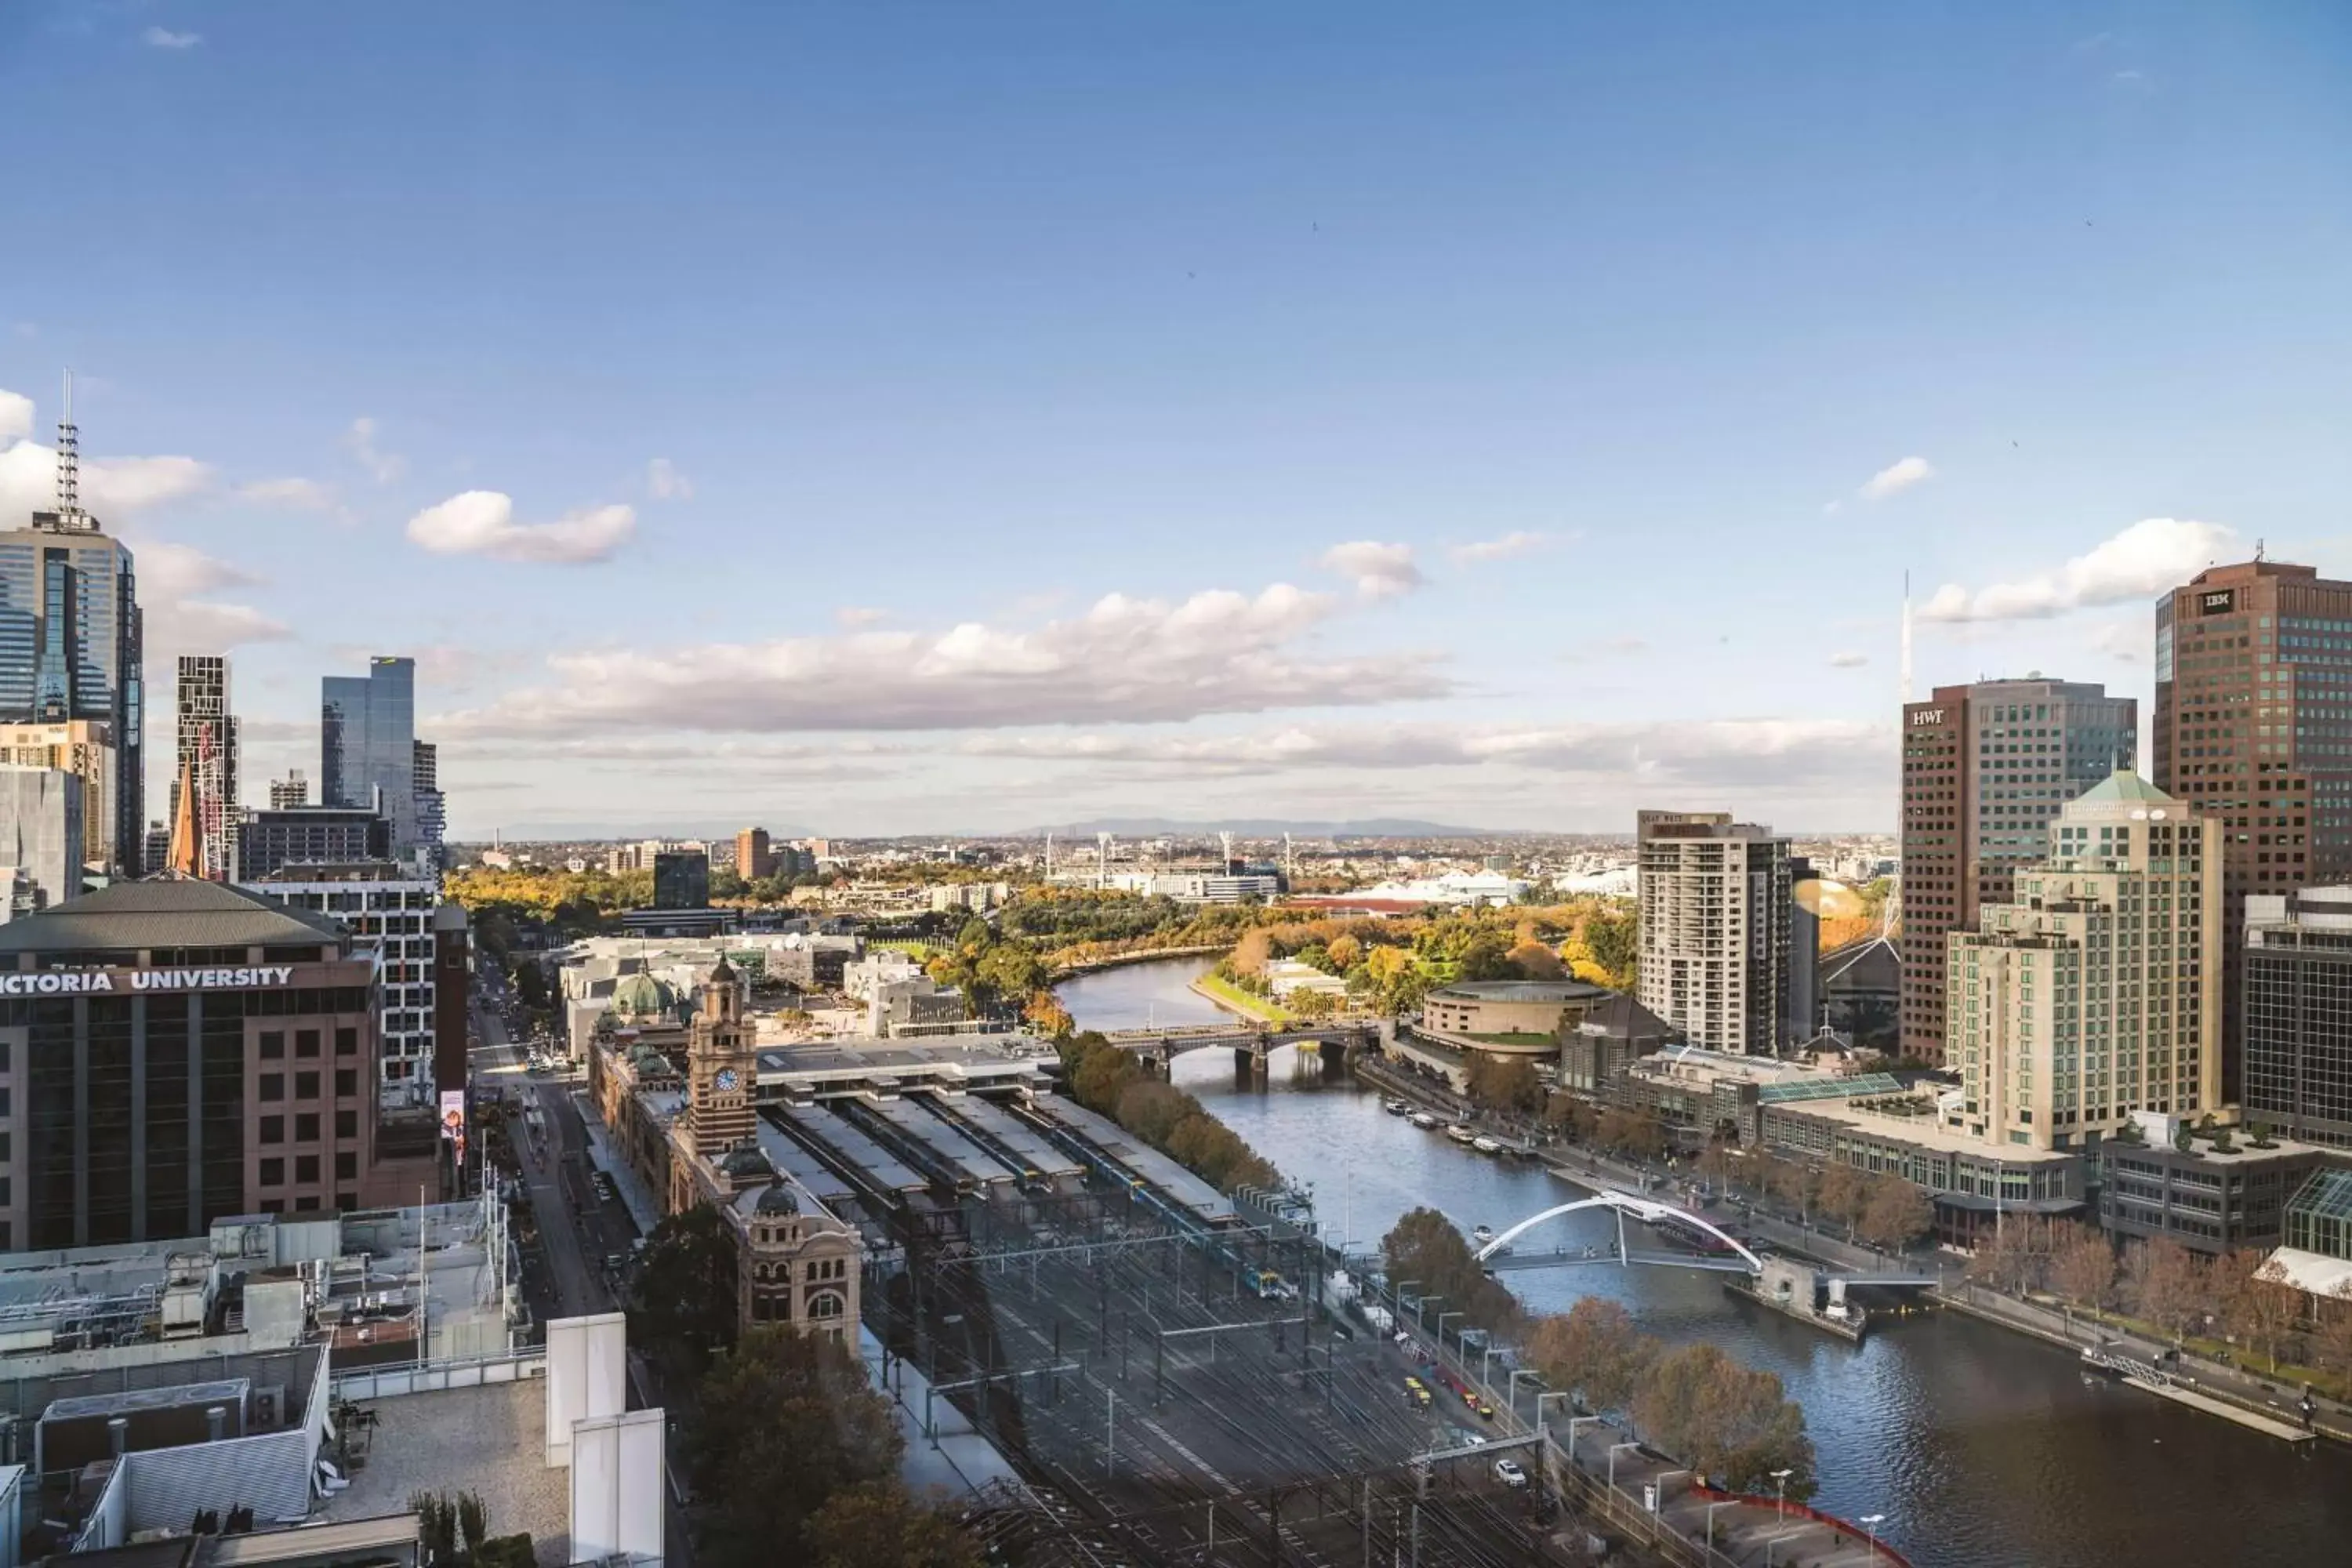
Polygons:
<instances>
[{"instance_id":1,"label":"low dark grey riverside block just right of the cream tower's base","mask_svg":"<svg viewBox=\"0 0 2352 1568\"><path fill-rule=\"evenodd\" d=\"M2286 1199L2326 1161L2307 1143L2197 1135L2187 1119L2140 1112L2133 1138L2098 1145L2098 1220L2117 1237L2178 1241L2192 1253L2270 1251Z\"/></svg>"}]
</instances>

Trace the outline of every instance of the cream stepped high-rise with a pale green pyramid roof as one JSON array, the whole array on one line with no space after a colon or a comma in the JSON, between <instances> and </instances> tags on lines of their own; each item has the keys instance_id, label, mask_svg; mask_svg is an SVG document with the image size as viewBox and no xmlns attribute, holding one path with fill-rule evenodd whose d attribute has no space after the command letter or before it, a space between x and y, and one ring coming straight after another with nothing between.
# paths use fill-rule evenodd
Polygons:
<instances>
[{"instance_id":1,"label":"cream stepped high-rise with a pale green pyramid roof","mask_svg":"<svg viewBox=\"0 0 2352 1568\"><path fill-rule=\"evenodd\" d=\"M2013 882L1945 938L1952 1124L2079 1150L2136 1110L2220 1110L2220 823L2119 771Z\"/></svg>"}]
</instances>

